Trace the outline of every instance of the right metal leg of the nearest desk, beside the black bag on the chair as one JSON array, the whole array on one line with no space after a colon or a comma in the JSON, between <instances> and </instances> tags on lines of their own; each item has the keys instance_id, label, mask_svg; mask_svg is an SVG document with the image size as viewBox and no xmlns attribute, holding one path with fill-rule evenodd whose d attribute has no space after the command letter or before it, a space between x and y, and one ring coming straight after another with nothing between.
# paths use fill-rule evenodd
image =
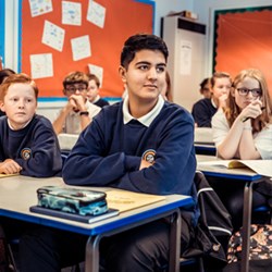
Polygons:
<instances>
[{"instance_id":1,"label":"right metal leg of the nearest desk, beside the black bag on the chair","mask_svg":"<svg viewBox=\"0 0 272 272\"><path fill-rule=\"evenodd\" d=\"M176 210L172 215L172 222L170 226L170 257L169 257L169 271L180 271L180 258L181 258L181 232L182 221L181 211Z\"/></svg>"}]
</instances>

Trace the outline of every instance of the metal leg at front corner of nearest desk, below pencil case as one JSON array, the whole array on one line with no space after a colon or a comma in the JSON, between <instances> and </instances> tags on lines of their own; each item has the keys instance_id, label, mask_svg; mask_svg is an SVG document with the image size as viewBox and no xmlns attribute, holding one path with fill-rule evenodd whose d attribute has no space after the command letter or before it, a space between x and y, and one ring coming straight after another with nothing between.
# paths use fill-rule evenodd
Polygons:
<instances>
[{"instance_id":1,"label":"metal leg at front corner of nearest desk, below pencil case","mask_svg":"<svg viewBox=\"0 0 272 272\"><path fill-rule=\"evenodd\" d=\"M98 272L99 271L99 242L100 235L91 236L86 244L85 252L85 271Z\"/></svg>"}]
</instances>

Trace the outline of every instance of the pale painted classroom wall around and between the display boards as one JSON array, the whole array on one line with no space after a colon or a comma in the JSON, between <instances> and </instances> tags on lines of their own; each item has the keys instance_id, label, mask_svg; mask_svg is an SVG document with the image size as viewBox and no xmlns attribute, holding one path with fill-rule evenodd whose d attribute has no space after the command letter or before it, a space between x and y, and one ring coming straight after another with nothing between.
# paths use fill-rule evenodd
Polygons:
<instances>
[{"instance_id":1,"label":"pale painted classroom wall around and between the display boards","mask_svg":"<svg viewBox=\"0 0 272 272\"><path fill-rule=\"evenodd\" d=\"M5 66L17 71L17 0L5 1ZM265 7L271 5L272 0L153 0L156 2L154 15L154 34L160 35L161 17L169 12L189 10L198 14L199 23L207 25L207 39L205 45L205 58L202 65L205 66L205 75L210 76L212 73L212 54L213 54L213 13L215 10L238 9L247 7ZM171 52L170 52L171 53ZM197 90L196 90L197 91ZM39 113L53 119L58 109L63 104L63 101L57 102L39 102Z\"/></svg>"}]
</instances>

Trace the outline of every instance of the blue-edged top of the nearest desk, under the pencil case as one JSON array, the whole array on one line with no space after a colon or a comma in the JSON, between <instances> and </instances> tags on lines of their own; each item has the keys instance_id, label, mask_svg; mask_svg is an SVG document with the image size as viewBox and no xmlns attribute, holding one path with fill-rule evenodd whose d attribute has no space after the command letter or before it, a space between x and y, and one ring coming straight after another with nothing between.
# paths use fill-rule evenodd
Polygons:
<instances>
[{"instance_id":1,"label":"blue-edged top of the nearest desk, under the pencil case","mask_svg":"<svg viewBox=\"0 0 272 272\"><path fill-rule=\"evenodd\" d=\"M69 186L63 183L61 177L35 178L17 175L0 178L0 215L86 235L96 235L123 225L134 224L181 207L188 207L193 203L193 199L189 196L170 195L165 197L165 200L122 212L120 215L92 224L86 224L30 212L29 207L37 205L38 201L37 188L46 185ZM107 189L112 189L102 187L89 188L104 191L107 191Z\"/></svg>"}]
</instances>

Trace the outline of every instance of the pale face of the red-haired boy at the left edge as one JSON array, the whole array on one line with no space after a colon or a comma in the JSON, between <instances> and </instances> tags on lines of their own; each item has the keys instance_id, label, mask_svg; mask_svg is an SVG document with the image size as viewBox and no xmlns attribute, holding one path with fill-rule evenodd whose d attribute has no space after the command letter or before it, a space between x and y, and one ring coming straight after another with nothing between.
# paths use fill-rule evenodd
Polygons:
<instances>
[{"instance_id":1,"label":"pale face of the red-haired boy at the left edge","mask_svg":"<svg viewBox=\"0 0 272 272\"><path fill-rule=\"evenodd\" d=\"M37 100L33 87L22 83L9 87L1 107L14 129L24 127L32 120L36 109Z\"/></svg>"}]
</instances>

